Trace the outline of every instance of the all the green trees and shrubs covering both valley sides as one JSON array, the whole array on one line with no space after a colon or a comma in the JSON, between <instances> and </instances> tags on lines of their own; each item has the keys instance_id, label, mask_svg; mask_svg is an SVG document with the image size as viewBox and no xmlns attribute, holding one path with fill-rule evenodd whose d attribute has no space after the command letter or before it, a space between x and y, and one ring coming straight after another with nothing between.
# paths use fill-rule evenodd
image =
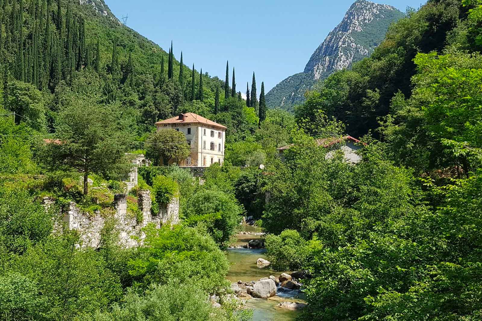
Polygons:
<instances>
[{"instance_id":1,"label":"all the green trees and shrubs covering both valley sides","mask_svg":"<svg viewBox=\"0 0 482 321\"><path fill-rule=\"evenodd\" d=\"M252 320L208 299L230 293L225 250L247 215L270 269L305 271L299 321L482 319L481 0L408 9L294 115L266 110L254 76L245 101L229 65L223 81L197 73L78 2L0 8L1 319ZM127 212L149 190L153 212L179 198L180 222L126 249L114 194L132 155L159 161L153 124L179 112L227 126L225 162L201 179L139 170ZM317 143L344 135L362 141L356 165ZM95 248L58 229L72 201L106 218Z\"/></svg>"}]
</instances>

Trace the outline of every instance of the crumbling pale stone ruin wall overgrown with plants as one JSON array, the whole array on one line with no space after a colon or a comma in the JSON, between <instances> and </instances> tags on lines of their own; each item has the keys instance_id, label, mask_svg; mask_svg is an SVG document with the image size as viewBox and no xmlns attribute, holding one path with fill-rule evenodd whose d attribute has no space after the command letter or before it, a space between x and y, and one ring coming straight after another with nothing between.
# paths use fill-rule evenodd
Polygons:
<instances>
[{"instance_id":1,"label":"crumbling pale stone ruin wall overgrown with plants","mask_svg":"<svg viewBox=\"0 0 482 321\"><path fill-rule=\"evenodd\" d=\"M139 240L142 240L141 229L149 223L154 223L159 228L168 222L175 224L179 221L179 199L174 198L171 203L162 207L159 215L152 215L150 191L139 192L138 206L142 213L142 221L140 222L137 221L138 218L132 217L127 212L127 195L116 194L113 206L115 209L116 228L120 233L120 242L124 247L133 247L137 244L138 241L134 240L133 236L137 236ZM64 206L62 215L65 223L64 229L80 232L81 246L94 248L99 246L101 231L108 218L103 217L100 213L91 215L82 212L74 202L69 202Z\"/></svg>"}]
</instances>

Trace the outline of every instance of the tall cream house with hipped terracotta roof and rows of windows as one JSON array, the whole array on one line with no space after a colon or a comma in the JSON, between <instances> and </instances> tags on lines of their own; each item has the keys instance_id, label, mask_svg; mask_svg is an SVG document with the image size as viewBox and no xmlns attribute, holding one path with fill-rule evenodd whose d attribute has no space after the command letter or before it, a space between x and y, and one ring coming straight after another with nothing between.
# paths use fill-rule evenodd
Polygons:
<instances>
[{"instance_id":1,"label":"tall cream house with hipped terracotta roof and rows of windows","mask_svg":"<svg viewBox=\"0 0 482 321\"><path fill-rule=\"evenodd\" d=\"M171 160L179 167L210 167L224 162L226 127L194 113L179 114L156 123L157 130L172 128L186 136L191 154L186 159ZM162 162L162 160L161 160Z\"/></svg>"}]
</instances>

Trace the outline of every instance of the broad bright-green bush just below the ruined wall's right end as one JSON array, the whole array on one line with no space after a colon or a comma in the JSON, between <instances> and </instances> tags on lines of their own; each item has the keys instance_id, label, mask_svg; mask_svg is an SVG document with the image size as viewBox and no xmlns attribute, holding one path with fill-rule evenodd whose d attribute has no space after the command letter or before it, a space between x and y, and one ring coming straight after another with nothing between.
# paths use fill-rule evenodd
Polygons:
<instances>
[{"instance_id":1,"label":"broad bright-green bush just below the ruined wall's right end","mask_svg":"<svg viewBox=\"0 0 482 321\"><path fill-rule=\"evenodd\" d=\"M229 261L205 230L181 225L156 229L149 224L143 232L144 243L128 264L136 287L147 289L151 283L173 279L196 282L208 293L226 286Z\"/></svg>"}]
</instances>

